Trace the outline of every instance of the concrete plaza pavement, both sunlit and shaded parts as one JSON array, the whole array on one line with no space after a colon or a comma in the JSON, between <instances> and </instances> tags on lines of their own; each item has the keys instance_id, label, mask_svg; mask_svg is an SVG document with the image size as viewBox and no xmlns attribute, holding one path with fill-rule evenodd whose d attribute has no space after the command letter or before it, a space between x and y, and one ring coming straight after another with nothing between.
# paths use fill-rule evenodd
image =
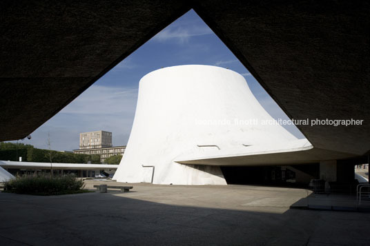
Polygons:
<instances>
[{"instance_id":1,"label":"concrete plaza pavement, both sunlit and shaded parts","mask_svg":"<svg viewBox=\"0 0 370 246\"><path fill-rule=\"evenodd\" d=\"M86 187L114 181L86 181ZM120 184L121 185L121 184ZM289 209L305 189L133 185L133 192L0 193L1 245L368 245L370 214Z\"/></svg>"}]
</instances>

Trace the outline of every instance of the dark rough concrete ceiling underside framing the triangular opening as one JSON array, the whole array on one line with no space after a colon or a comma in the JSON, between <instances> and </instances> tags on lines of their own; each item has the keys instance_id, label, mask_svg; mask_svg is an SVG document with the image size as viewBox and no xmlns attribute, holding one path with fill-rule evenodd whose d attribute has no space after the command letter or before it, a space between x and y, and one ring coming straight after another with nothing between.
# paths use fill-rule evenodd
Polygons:
<instances>
[{"instance_id":1,"label":"dark rough concrete ceiling underside framing the triangular opening","mask_svg":"<svg viewBox=\"0 0 370 246\"><path fill-rule=\"evenodd\" d=\"M370 150L367 1L1 1L0 141L22 139L193 8L315 146Z\"/></svg>"}]
</instances>

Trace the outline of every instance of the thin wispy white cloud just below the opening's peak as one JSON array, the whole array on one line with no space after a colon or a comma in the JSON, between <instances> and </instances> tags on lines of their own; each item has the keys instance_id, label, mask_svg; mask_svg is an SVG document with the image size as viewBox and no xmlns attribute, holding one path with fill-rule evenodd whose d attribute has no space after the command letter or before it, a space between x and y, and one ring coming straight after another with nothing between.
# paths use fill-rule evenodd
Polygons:
<instances>
[{"instance_id":1,"label":"thin wispy white cloud just below the opening's peak","mask_svg":"<svg viewBox=\"0 0 370 246\"><path fill-rule=\"evenodd\" d=\"M212 30L206 26L193 28L167 27L153 37L154 41L165 42L177 39L179 43L186 43L191 37L212 34Z\"/></svg>"}]
</instances>

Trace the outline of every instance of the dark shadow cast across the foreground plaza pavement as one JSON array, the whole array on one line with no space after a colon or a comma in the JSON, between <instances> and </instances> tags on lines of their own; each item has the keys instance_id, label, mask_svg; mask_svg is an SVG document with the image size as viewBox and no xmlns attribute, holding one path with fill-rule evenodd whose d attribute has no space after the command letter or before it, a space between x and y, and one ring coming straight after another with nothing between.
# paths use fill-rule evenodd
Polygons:
<instances>
[{"instance_id":1,"label":"dark shadow cast across the foreground plaza pavement","mask_svg":"<svg viewBox=\"0 0 370 246\"><path fill-rule=\"evenodd\" d=\"M10 245L360 245L370 225L357 213L251 212L98 193L0 194L0 204L0 240Z\"/></svg>"}]
</instances>

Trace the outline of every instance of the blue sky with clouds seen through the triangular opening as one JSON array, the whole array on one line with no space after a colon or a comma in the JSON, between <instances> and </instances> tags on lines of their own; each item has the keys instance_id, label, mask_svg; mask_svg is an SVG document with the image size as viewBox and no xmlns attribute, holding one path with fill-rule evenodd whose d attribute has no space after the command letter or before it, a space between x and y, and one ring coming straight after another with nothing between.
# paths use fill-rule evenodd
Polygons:
<instances>
[{"instance_id":1,"label":"blue sky with clouds seen through the triangular opening","mask_svg":"<svg viewBox=\"0 0 370 246\"><path fill-rule=\"evenodd\" d=\"M185 64L217 65L244 76L261 105L275 119L289 119L226 45L191 10L121 61L88 90L33 132L29 143L53 150L79 148L79 133L113 132L113 145L126 145L135 116L139 80L162 67ZM295 126L284 126L298 138Z\"/></svg>"}]
</instances>

